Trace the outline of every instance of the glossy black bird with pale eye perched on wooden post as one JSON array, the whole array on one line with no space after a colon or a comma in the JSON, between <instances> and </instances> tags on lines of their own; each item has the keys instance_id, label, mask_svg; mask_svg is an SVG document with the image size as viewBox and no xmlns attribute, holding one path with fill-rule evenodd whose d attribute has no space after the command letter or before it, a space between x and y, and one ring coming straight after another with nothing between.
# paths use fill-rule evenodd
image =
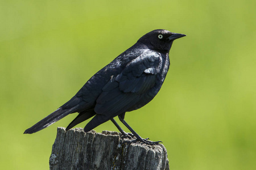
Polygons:
<instances>
[{"instance_id":1,"label":"glossy black bird with pale eye perched on wooden post","mask_svg":"<svg viewBox=\"0 0 256 170\"><path fill-rule=\"evenodd\" d=\"M147 144L160 142L141 138L124 120L125 113L143 107L158 94L170 66L172 42L184 36L164 29L146 33L131 48L94 74L71 100L24 134L35 133L70 113L78 112L79 115L66 130L94 116L85 126L85 132L111 120L122 135L130 137L115 122L114 117L118 116L138 141Z\"/></svg>"}]
</instances>

